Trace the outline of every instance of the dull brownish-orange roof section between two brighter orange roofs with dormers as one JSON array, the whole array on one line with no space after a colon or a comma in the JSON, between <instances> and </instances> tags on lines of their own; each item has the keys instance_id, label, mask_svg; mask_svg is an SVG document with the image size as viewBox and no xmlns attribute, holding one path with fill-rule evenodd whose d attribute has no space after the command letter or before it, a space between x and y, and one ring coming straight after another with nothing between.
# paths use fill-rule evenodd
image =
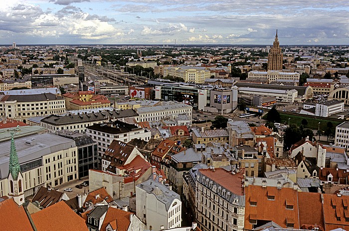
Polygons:
<instances>
[{"instance_id":1,"label":"dull brownish-orange roof section between two brighter orange roofs with dormers","mask_svg":"<svg viewBox=\"0 0 349 231\"><path fill-rule=\"evenodd\" d=\"M320 193L298 192L298 205L301 228L318 227L320 231L325 231Z\"/></svg>"}]
</instances>

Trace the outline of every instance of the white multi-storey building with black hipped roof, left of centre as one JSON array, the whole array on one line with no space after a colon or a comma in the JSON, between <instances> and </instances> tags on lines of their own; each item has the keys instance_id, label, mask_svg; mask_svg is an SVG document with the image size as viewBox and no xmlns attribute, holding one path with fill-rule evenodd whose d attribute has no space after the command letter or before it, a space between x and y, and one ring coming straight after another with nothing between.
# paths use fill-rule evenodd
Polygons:
<instances>
[{"instance_id":1,"label":"white multi-storey building with black hipped roof, left of centre","mask_svg":"<svg viewBox=\"0 0 349 231\"><path fill-rule=\"evenodd\" d=\"M132 139L140 139L148 142L152 137L150 130L120 120L91 125L86 128L86 134L98 144L100 155L106 151L113 140L128 143Z\"/></svg>"}]
</instances>

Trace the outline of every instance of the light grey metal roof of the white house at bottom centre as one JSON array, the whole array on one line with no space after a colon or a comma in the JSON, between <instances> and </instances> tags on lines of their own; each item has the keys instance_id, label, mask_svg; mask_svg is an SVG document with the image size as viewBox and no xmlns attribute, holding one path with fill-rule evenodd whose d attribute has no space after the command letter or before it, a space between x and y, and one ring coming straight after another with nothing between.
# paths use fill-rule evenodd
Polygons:
<instances>
[{"instance_id":1,"label":"light grey metal roof of the white house at bottom centre","mask_svg":"<svg viewBox=\"0 0 349 231\"><path fill-rule=\"evenodd\" d=\"M180 196L178 194L167 188L165 185L153 181L152 179L137 185L137 187L145 190L149 194L154 194L158 201L165 204L167 211L170 209L174 199L178 199L180 201Z\"/></svg>"}]
</instances>

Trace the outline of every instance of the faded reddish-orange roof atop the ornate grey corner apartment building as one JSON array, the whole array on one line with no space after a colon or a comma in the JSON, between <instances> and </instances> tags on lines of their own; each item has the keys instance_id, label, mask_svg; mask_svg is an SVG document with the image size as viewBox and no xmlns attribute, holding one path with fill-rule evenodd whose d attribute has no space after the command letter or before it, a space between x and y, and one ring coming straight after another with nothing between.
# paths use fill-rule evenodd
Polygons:
<instances>
[{"instance_id":1,"label":"faded reddish-orange roof atop the ornate grey corner apartment building","mask_svg":"<svg viewBox=\"0 0 349 231\"><path fill-rule=\"evenodd\" d=\"M231 191L236 195L243 195L242 179L245 169L235 175L232 175L229 171L221 168L216 168L215 171L210 169L199 169L199 171L212 181L218 183L222 187Z\"/></svg>"}]
</instances>

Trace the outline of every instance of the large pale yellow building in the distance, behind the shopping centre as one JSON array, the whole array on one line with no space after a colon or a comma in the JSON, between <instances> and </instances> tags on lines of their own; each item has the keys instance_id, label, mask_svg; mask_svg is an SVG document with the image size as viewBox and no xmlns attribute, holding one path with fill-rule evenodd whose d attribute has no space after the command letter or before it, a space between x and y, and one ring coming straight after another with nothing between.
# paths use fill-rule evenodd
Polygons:
<instances>
[{"instance_id":1,"label":"large pale yellow building in the distance, behind the shopping centre","mask_svg":"<svg viewBox=\"0 0 349 231\"><path fill-rule=\"evenodd\" d=\"M164 67L164 76L167 75L183 78L184 82L203 83L205 82L205 79L210 78L211 72L207 70L205 67Z\"/></svg>"}]
</instances>

